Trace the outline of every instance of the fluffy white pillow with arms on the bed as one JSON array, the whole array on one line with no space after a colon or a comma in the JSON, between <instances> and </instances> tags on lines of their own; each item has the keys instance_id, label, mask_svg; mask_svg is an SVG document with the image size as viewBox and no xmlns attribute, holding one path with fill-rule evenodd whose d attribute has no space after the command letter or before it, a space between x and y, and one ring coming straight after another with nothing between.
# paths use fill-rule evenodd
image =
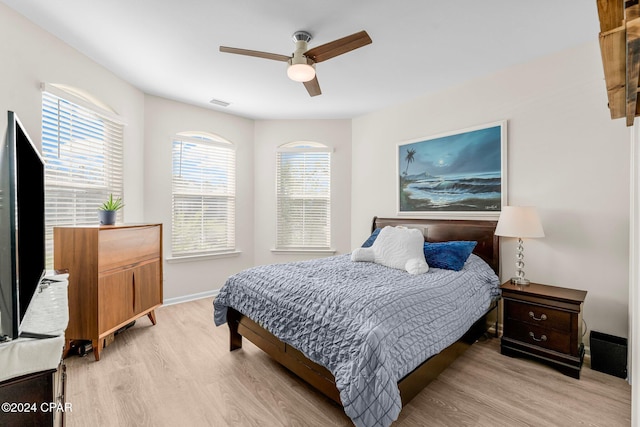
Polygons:
<instances>
[{"instance_id":1,"label":"fluffy white pillow with arms on the bed","mask_svg":"<svg viewBox=\"0 0 640 427\"><path fill-rule=\"evenodd\" d=\"M386 226L371 247L353 251L351 261L375 262L406 270L409 274L422 274L429 271L423 247L424 237L420 230Z\"/></svg>"}]
</instances>

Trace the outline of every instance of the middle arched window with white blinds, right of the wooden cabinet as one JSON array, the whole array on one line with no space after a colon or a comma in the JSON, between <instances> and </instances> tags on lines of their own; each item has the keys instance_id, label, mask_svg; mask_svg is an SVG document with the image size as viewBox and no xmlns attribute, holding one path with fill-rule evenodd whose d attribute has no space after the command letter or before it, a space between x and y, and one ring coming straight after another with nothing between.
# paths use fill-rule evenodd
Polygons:
<instances>
[{"instance_id":1,"label":"middle arched window with white blinds, right of the wooden cabinet","mask_svg":"<svg viewBox=\"0 0 640 427\"><path fill-rule=\"evenodd\" d=\"M235 251L234 145L207 133L180 133L172 175L173 256Z\"/></svg>"}]
</instances>

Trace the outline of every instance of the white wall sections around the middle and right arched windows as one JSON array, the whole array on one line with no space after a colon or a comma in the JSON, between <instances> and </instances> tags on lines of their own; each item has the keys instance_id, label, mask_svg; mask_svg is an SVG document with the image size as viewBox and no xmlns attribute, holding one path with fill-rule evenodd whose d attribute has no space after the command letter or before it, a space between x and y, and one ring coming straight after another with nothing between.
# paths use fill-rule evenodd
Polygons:
<instances>
[{"instance_id":1,"label":"white wall sections around the middle and right arched windows","mask_svg":"<svg viewBox=\"0 0 640 427\"><path fill-rule=\"evenodd\" d=\"M276 148L299 140L322 142L332 154L332 229L337 253L350 251L350 120L257 121L147 95L145 97L145 221L164 224L171 256L171 141L178 132L207 131L237 147L236 245L239 256L165 263L165 301L219 289L233 273L257 264L319 256L273 254Z\"/></svg>"}]
</instances>

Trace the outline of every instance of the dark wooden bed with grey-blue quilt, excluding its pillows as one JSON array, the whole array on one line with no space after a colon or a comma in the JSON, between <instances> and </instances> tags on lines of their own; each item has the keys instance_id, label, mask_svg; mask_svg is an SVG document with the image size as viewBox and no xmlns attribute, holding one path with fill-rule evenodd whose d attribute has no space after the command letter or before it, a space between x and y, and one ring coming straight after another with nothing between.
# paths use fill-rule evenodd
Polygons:
<instances>
[{"instance_id":1,"label":"dark wooden bed with grey-blue quilt, excluding its pillows","mask_svg":"<svg viewBox=\"0 0 640 427\"><path fill-rule=\"evenodd\" d=\"M357 426L390 425L497 321L495 221L375 217L371 230L386 226L419 228L426 242L477 244L460 272L414 276L349 254L258 266L230 277L214 300L231 351L247 338L342 405ZM436 282L424 285L427 277ZM398 305L406 301L410 308Z\"/></svg>"}]
</instances>

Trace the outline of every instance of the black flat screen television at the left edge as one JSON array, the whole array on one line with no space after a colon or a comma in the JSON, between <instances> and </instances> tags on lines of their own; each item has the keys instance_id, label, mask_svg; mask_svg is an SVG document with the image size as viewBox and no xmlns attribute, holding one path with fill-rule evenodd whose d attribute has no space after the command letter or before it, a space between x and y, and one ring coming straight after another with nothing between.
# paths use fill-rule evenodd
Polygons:
<instances>
[{"instance_id":1,"label":"black flat screen television at the left edge","mask_svg":"<svg viewBox=\"0 0 640 427\"><path fill-rule=\"evenodd\" d=\"M0 148L0 341L20 336L45 273L44 160L13 111Z\"/></svg>"}]
</instances>

